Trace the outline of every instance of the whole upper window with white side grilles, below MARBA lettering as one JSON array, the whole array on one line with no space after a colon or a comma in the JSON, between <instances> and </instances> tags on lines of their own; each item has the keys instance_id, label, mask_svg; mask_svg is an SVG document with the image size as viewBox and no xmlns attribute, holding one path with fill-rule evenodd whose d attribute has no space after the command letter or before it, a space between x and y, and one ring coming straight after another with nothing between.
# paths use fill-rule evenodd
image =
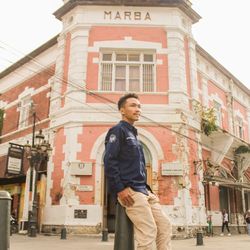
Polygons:
<instances>
[{"instance_id":1,"label":"whole upper window with white side grilles, below MARBA lettering","mask_svg":"<svg viewBox=\"0 0 250 250\"><path fill-rule=\"evenodd\" d=\"M143 52L102 53L101 91L155 91L155 55Z\"/></svg>"}]
</instances>

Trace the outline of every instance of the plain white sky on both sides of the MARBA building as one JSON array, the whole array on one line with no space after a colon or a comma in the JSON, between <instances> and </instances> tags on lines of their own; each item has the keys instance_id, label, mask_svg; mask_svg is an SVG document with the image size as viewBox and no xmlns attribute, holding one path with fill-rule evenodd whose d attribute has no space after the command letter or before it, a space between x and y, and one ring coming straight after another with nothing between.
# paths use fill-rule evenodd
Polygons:
<instances>
[{"instance_id":1,"label":"plain white sky on both sides of the MARBA building","mask_svg":"<svg viewBox=\"0 0 250 250\"><path fill-rule=\"evenodd\" d=\"M197 43L250 89L250 1L191 0ZM0 71L60 33L62 0L0 0Z\"/></svg>"}]
</instances>

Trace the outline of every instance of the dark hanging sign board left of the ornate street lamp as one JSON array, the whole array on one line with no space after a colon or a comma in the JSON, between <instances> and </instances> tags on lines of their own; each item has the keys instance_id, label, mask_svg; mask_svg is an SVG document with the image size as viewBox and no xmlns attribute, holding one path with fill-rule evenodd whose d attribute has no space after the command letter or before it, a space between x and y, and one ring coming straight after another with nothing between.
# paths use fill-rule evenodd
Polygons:
<instances>
[{"instance_id":1,"label":"dark hanging sign board left of the ornate street lamp","mask_svg":"<svg viewBox=\"0 0 250 250\"><path fill-rule=\"evenodd\" d=\"M22 145L10 143L7 155L7 173L20 174L23 166L24 148Z\"/></svg>"}]
</instances>

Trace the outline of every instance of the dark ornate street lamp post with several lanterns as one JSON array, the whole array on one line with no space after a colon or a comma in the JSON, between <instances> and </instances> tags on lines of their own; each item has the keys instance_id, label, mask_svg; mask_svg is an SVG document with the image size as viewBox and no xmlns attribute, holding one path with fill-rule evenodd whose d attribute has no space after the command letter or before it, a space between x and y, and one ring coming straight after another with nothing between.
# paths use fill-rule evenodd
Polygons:
<instances>
[{"instance_id":1,"label":"dark ornate street lamp post with several lanterns","mask_svg":"<svg viewBox=\"0 0 250 250\"><path fill-rule=\"evenodd\" d=\"M38 209L38 202L37 202L38 171L40 169L41 163L49 159L51 148L49 142L44 140L44 135L42 134L42 130L40 130L39 134L37 134L36 136L34 136L33 132L32 146L29 144L29 142L27 142L24 148L28 155L30 164L30 191L33 190L32 209L29 210L29 216L28 216L28 236L36 237L37 209ZM33 177L34 170L35 170L35 175ZM33 183L34 183L34 188L32 188Z\"/></svg>"}]
</instances>

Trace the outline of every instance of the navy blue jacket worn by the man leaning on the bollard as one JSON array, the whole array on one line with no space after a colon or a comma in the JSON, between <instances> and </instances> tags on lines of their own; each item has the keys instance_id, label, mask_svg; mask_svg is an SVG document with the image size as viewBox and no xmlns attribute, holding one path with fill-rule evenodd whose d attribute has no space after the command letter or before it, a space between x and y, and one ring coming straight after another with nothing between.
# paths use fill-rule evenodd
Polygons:
<instances>
[{"instance_id":1,"label":"navy blue jacket worn by the man leaning on the bollard","mask_svg":"<svg viewBox=\"0 0 250 250\"><path fill-rule=\"evenodd\" d=\"M105 139L105 174L109 189L117 194L126 187L148 194L145 159L137 130L125 121L112 127Z\"/></svg>"}]
</instances>

